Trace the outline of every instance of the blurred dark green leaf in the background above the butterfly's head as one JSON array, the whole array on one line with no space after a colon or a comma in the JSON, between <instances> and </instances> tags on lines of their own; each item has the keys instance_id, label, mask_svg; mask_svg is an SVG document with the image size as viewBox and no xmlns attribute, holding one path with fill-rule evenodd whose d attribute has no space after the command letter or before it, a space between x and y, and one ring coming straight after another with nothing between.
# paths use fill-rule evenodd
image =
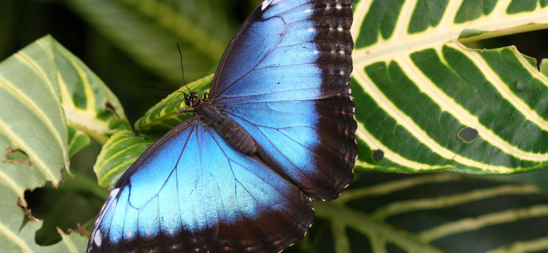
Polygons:
<instances>
[{"instance_id":1,"label":"blurred dark green leaf in the background above the butterfly's head","mask_svg":"<svg viewBox=\"0 0 548 253\"><path fill-rule=\"evenodd\" d=\"M236 27L224 1L68 0L69 6L136 62L179 86L179 45L188 80L203 77Z\"/></svg>"}]
</instances>

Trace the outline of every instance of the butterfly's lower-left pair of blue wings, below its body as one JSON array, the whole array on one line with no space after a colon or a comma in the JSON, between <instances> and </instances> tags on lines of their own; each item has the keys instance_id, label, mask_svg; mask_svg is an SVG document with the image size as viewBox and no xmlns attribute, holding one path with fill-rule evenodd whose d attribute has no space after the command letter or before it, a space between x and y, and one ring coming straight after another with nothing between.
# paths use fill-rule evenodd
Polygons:
<instances>
[{"instance_id":1,"label":"butterfly's lower-left pair of blue wings, below its body","mask_svg":"<svg viewBox=\"0 0 548 253\"><path fill-rule=\"evenodd\" d=\"M313 217L306 194L193 117L116 183L88 252L279 252Z\"/></svg>"}]
</instances>

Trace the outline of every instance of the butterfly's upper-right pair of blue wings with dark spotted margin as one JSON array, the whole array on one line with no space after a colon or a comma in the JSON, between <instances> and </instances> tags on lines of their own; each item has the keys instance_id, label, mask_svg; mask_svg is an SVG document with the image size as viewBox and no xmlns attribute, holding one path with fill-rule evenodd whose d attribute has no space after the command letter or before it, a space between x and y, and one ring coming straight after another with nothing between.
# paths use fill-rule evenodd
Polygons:
<instances>
[{"instance_id":1,"label":"butterfly's upper-right pair of blue wings with dark spotted margin","mask_svg":"<svg viewBox=\"0 0 548 253\"><path fill-rule=\"evenodd\" d=\"M258 142L261 157L319 200L352 181L358 155L351 0L266 0L229 45L211 101Z\"/></svg>"}]
</instances>

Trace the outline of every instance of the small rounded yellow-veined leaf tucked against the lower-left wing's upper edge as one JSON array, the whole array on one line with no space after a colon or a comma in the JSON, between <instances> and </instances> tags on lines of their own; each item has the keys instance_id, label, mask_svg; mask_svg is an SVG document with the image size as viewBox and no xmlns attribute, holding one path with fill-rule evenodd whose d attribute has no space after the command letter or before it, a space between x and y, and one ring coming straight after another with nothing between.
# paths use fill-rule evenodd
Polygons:
<instances>
[{"instance_id":1,"label":"small rounded yellow-veined leaf tucked against the lower-left wing's upper edge","mask_svg":"<svg viewBox=\"0 0 548 253\"><path fill-rule=\"evenodd\" d=\"M108 139L101 149L97 162L93 166L97 181L101 187L112 188L152 141L136 136L132 131L120 131Z\"/></svg>"}]
</instances>

